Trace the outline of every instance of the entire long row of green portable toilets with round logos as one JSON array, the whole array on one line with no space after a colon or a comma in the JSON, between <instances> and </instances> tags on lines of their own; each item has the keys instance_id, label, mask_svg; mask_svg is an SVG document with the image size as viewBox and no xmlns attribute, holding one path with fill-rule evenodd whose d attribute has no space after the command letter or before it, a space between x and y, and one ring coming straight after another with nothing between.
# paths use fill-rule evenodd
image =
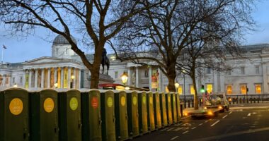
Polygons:
<instances>
[{"instance_id":1,"label":"entire long row of green portable toilets with round logos","mask_svg":"<svg viewBox=\"0 0 269 141\"><path fill-rule=\"evenodd\" d=\"M180 110L171 106L179 103L173 99L158 92L5 90L0 93L0 140L127 140L172 123L169 118L175 123L178 118L171 115L180 116L172 110Z\"/></svg>"}]
</instances>

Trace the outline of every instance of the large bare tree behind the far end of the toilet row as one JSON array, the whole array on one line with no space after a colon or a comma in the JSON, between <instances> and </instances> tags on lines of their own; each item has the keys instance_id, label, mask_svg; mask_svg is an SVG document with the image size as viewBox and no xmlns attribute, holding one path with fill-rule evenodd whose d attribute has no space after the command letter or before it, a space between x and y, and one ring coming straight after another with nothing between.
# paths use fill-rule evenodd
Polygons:
<instances>
[{"instance_id":1,"label":"large bare tree behind the far end of the toilet row","mask_svg":"<svg viewBox=\"0 0 269 141\"><path fill-rule=\"evenodd\" d=\"M149 4L144 2L146 8ZM116 55L122 61L142 64L154 61L168 78L168 90L175 92L176 61L184 48L200 39L190 37L202 30L209 37L212 33L229 33L227 42L232 37L235 37L232 41L238 41L241 31L253 25L252 4L247 0L168 0L132 17L117 37Z\"/></svg>"}]
</instances>

